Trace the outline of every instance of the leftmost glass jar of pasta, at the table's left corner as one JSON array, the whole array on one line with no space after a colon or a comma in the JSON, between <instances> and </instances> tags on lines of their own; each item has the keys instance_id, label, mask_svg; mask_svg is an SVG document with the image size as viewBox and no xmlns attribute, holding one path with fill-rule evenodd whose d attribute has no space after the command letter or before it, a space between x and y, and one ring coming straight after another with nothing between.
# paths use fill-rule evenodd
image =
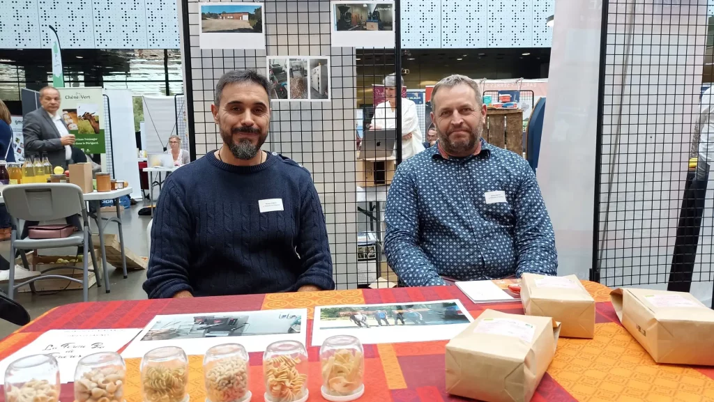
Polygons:
<instances>
[{"instance_id":1,"label":"leftmost glass jar of pasta, at the table's left corner","mask_svg":"<svg viewBox=\"0 0 714 402\"><path fill-rule=\"evenodd\" d=\"M59 366L50 355L20 358L5 371L5 401L58 402Z\"/></svg>"}]
</instances>

